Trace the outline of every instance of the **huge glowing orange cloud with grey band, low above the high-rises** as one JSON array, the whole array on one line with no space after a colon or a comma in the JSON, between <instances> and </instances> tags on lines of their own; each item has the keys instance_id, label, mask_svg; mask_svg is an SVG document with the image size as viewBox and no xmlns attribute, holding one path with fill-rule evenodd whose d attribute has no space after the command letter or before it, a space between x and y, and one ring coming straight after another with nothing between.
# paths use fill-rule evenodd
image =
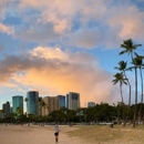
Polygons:
<instances>
[{"instance_id":1,"label":"huge glowing orange cloud with grey band, low above the high-rises","mask_svg":"<svg viewBox=\"0 0 144 144\"><path fill-rule=\"evenodd\" d=\"M9 55L0 65L1 83L11 80L14 84L40 91L40 95L79 92L82 105L88 101L121 101L111 82L112 74L102 70L95 58L85 52L39 47L27 56Z\"/></svg>"}]
</instances>

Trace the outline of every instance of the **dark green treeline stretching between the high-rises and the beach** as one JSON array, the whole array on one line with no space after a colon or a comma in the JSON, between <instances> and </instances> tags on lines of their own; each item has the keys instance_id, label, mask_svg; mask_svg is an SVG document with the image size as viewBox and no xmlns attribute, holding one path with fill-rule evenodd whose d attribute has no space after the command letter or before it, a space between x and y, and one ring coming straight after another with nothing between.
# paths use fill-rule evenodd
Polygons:
<instances>
[{"instance_id":1,"label":"dark green treeline stretching between the high-rises and the beach","mask_svg":"<svg viewBox=\"0 0 144 144\"><path fill-rule=\"evenodd\" d=\"M19 116L16 116L14 113L10 113L10 115L6 119L0 119L1 123L51 123L51 122L60 122L63 124L73 122L73 123L100 123L100 122L116 122L122 124L123 117L127 114L128 105L124 103L117 103L116 105L110 105L107 103L96 104L93 107L82 107L78 110L68 110L61 109L58 111L53 111L47 116L42 115L32 115L30 114L27 117L27 114L20 113ZM141 107L141 103L136 105L137 109ZM144 104L143 104L143 112L144 112ZM135 105L130 106L130 113L127 117L127 122L133 122ZM138 114L138 111L137 111ZM144 116L141 113L142 117Z\"/></svg>"}]
</instances>

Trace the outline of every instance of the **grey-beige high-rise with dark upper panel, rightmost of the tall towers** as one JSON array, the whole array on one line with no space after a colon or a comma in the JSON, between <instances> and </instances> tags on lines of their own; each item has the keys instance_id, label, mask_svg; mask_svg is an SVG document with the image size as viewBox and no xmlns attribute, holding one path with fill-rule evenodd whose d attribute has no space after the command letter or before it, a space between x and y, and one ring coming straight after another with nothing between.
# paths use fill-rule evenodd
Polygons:
<instances>
[{"instance_id":1,"label":"grey-beige high-rise with dark upper panel, rightmost of the tall towers","mask_svg":"<svg viewBox=\"0 0 144 144\"><path fill-rule=\"evenodd\" d=\"M76 110L80 107L80 93L69 92L66 94L66 107L69 110Z\"/></svg>"}]
</instances>

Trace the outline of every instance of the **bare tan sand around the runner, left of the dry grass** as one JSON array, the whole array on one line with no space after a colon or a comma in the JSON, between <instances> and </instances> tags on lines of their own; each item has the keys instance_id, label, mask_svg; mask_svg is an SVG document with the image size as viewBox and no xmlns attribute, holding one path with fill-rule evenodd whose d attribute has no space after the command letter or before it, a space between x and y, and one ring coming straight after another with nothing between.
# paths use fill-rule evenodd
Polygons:
<instances>
[{"instance_id":1,"label":"bare tan sand around the runner, left of the dry grass","mask_svg":"<svg viewBox=\"0 0 144 144\"><path fill-rule=\"evenodd\" d=\"M60 144L86 144L66 132L78 127L60 126ZM55 144L53 126L0 125L0 144Z\"/></svg>"}]
</instances>

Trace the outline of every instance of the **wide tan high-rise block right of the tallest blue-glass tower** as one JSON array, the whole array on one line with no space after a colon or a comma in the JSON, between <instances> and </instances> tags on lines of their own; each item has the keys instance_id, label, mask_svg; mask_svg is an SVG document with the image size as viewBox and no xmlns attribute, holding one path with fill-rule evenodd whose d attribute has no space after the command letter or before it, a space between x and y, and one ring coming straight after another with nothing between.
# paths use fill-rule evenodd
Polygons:
<instances>
[{"instance_id":1,"label":"wide tan high-rise block right of the tallest blue-glass tower","mask_svg":"<svg viewBox=\"0 0 144 144\"><path fill-rule=\"evenodd\" d=\"M49 115L52 111L60 110L59 99L54 96L43 97L45 106L42 107L42 115Z\"/></svg>"}]
</instances>

